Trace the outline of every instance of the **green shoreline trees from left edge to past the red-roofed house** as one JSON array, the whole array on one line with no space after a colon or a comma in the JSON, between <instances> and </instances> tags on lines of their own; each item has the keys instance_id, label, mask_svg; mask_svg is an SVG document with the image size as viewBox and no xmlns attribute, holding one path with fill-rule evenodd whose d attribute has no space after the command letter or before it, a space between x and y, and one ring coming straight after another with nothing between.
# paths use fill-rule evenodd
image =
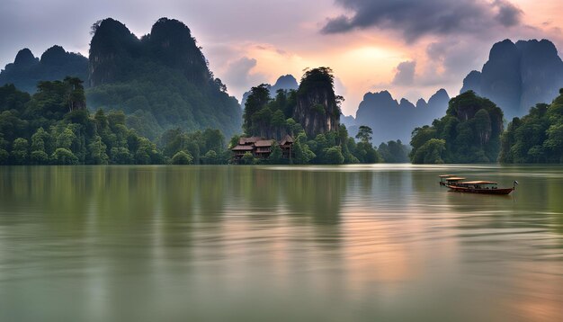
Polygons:
<instances>
[{"instance_id":1,"label":"green shoreline trees from left edge to past the red-roofed house","mask_svg":"<svg viewBox=\"0 0 563 322\"><path fill-rule=\"evenodd\" d=\"M344 125L338 130L308 139L299 123L290 117L295 106L295 91L279 91L269 97L264 86L253 88L247 107L264 101L255 114L272 113L273 118L254 117L246 112L246 129L255 135L295 138L295 164L344 164L403 162L407 147L400 141L381 144L380 157L371 141L371 129L362 127L356 137L349 137ZM288 112L289 111L289 112ZM268 122L269 121L269 122ZM265 125L262 124L268 122ZM278 124L278 123L275 123ZM230 147L237 144L234 136ZM19 91L14 85L0 87L0 165L217 165L228 164L231 152L220 130L186 132L179 128L166 130L154 141L139 136L126 124L123 112L88 112L85 90L75 77L64 81L40 82L36 94ZM247 164L282 164L281 149L273 147L268 160L246 157Z\"/></svg>"}]
</instances>

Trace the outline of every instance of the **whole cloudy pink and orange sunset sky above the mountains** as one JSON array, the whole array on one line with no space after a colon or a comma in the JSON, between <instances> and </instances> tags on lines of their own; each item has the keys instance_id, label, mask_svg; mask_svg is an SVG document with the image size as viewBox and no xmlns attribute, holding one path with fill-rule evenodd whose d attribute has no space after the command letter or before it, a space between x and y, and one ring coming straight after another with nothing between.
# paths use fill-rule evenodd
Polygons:
<instances>
[{"instance_id":1,"label":"whole cloudy pink and orange sunset sky above the mountains","mask_svg":"<svg viewBox=\"0 0 563 322\"><path fill-rule=\"evenodd\" d=\"M0 0L0 67L57 44L88 56L90 27L112 17L138 37L160 17L184 22L238 99L251 86L331 67L343 112L389 90L415 103L459 94L497 41L549 39L563 50L560 0ZM559 56L560 53L559 53Z\"/></svg>"}]
</instances>

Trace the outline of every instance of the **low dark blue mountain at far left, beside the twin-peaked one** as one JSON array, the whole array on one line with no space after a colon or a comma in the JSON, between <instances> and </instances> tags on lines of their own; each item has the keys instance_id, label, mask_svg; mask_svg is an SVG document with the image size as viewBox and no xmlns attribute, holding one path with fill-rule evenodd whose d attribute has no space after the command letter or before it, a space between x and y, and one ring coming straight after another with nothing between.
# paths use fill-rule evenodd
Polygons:
<instances>
[{"instance_id":1,"label":"low dark blue mountain at far left, beside the twin-peaked one","mask_svg":"<svg viewBox=\"0 0 563 322\"><path fill-rule=\"evenodd\" d=\"M35 58L30 49L22 49L13 63L6 65L0 73L0 85L13 84L33 94L38 82L62 80L66 76L87 80L88 59L57 45L47 49L41 58Z\"/></svg>"}]
</instances>

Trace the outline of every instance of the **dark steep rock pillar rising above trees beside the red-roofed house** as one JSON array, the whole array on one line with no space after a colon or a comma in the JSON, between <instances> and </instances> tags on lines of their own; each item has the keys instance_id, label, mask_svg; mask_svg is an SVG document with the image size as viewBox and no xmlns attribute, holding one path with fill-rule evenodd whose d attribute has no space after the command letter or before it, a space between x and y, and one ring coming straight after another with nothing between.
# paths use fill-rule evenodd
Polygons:
<instances>
[{"instance_id":1,"label":"dark steep rock pillar rising above trees beside the red-roofed house","mask_svg":"<svg viewBox=\"0 0 563 322\"><path fill-rule=\"evenodd\" d=\"M315 138L317 134L338 130L340 114L332 75L322 68L307 71L299 85L295 121L309 138Z\"/></svg>"}]
</instances>

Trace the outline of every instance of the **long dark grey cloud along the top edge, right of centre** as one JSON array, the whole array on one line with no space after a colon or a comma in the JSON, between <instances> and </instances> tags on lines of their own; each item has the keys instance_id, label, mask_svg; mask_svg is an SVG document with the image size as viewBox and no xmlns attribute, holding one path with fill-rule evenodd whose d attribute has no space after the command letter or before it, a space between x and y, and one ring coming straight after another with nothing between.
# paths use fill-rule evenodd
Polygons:
<instances>
[{"instance_id":1,"label":"long dark grey cloud along the top edge, right of centre","mask_svg":"<svg viewBox=\"0 0 563 322\"><path fill-rule=\"evenodd\" d=\"M335 0L352 15L327 19L323 33L377 27L401 31L405 40L424 35L490 31L521 23L523 12L507 0Z\"/></svg>"}]
</instances>

